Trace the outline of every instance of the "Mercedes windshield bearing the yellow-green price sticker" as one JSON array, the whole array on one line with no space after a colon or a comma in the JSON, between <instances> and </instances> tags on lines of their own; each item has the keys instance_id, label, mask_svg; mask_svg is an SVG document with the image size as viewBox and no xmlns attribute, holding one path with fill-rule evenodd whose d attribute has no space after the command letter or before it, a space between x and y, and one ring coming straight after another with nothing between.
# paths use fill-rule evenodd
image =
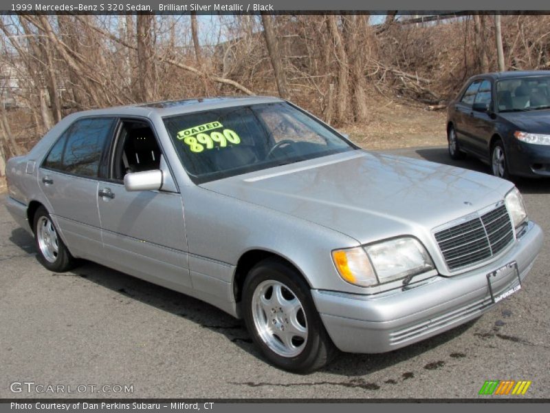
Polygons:
<instances>
[{"instance_id":1,"label":"Mercedes windshield bearing the yellow-green price sticker","mask_svg":"<svg viewBox=\"0 0 550 413\"><path fill-rule=\"evenodd\" d=\"M197 184L356 149L288 103L170 116L164 125Z\"/></svg>"}]
</instances>

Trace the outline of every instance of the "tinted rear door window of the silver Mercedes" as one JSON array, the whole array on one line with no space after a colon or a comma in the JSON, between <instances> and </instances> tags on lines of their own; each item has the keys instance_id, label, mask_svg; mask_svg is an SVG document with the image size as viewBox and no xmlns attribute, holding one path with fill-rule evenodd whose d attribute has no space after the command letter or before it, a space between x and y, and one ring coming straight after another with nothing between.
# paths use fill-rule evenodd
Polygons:
<instances>
[{"instance_id":1,"label":"tinted rear door window of the silver Mercedes","mask_svg":"<svg viewBox=\"0 0 550 413\"><path fill-rule=\"evenodd\" d=\"M114 118L77 120L52 147L44 167L96 178L113 123Z\"/></svg>"}]
</instances>

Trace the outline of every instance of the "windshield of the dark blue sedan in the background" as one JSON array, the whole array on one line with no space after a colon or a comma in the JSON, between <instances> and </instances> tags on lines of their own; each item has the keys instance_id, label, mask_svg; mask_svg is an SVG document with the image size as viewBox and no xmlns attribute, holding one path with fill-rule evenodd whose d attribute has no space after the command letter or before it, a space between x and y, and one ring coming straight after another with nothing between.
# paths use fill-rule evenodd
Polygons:
<instances>
[{"instance_id":1,"label":"windshield of the dark blue sedan in the background","mask_svg":"<svg viewBox=\"0 0 550 413\"><path fill-rule=\"evenodd\" d=\"M518 112L550 107L550 76L512 78L496 83L499 112Z\"/></svg>"}]
</instances>

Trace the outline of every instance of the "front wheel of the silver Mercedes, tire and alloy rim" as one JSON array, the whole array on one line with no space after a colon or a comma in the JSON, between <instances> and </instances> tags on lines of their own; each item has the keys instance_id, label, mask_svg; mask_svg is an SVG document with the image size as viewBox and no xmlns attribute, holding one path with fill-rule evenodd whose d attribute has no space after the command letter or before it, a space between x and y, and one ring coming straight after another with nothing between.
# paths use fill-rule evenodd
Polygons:
<instances>
[{"instance_id":1,"label":"front wheel of the silver Mercedes, tire and alloy rim","mask_svg":"<svg viewBox=\"0 0 550 413\"><path fill-rule=\"evenodd\" d=\"M243 289L245 324L275 366L306 373L329 363L336 348L298 272L282 260L263 260Z\"/></svg>"}]
</instances>

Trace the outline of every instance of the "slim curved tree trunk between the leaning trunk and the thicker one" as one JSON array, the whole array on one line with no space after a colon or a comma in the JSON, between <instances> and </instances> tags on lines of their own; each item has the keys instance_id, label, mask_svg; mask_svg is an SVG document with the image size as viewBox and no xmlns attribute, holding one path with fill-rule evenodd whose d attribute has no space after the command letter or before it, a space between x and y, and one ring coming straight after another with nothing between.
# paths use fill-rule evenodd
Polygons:
<instances>
[{"instance_id":1,"label":"slim curved tree trunk between the leaning trunk and the thicker one","mask_svg":"<svg viewBox=\"0 0 550 413\"><path fill-rule=\"evenodd\" d=\"M327 28L331 35L334 54L336 54L338 76L337 92L336 92L336 123L345 123L347 120L348 100L349 100L349 65L348 57L344 45L342 44L342 36L338 30L336 16L333 14L327 15Z\"/></svg>"}]
</instances>

